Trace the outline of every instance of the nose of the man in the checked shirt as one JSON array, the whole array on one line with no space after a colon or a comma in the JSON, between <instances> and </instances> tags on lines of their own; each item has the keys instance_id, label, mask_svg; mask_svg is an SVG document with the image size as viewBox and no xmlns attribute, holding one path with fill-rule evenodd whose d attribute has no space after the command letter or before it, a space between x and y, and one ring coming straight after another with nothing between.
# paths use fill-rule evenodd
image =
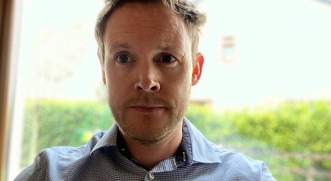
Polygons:
<instances>
[{"instance_id":1,"label":"nose of the man in the checked shirt","mask_svg":"<svg viewBox=\"0 0 331 181\"><path fill-rule=\"evenodd\" d=\"M160 90L160 83L157 80L157 72L150 67L139 68L137 81L134 89L137 91L145 91L149 93L158 92Z\"/></svg>"}]
</instances>

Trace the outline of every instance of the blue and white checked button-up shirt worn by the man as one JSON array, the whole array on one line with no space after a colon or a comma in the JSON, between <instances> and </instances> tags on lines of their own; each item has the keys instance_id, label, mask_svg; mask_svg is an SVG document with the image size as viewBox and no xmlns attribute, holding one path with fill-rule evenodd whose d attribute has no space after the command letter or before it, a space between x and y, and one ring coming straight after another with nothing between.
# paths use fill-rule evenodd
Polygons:
<instances>
[{"instance_id":1,"label":"blue and white checked button-up shirt worn by the man","mask_svg":"<svg viewBox=\"0 0 331 181\"><path fill-rule=\"evenodd\" d=\"M120 153L117 133L114 124L81 147L46 149L15 180L275 180L262 161L213 144L186 117L178 154L161 161L152 170Z\"/></svg>"}]
</instances>

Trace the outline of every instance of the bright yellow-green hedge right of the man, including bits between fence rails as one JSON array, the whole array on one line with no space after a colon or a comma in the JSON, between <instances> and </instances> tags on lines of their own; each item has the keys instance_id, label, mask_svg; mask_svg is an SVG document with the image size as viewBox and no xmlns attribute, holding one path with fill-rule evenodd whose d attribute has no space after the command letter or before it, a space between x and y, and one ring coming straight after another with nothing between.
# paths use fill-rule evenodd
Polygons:
<instances>
[{"instance_id":1,"label":"bright yellow-green hedge right of the man, including bits between fence rails","mask_svg":"<svg viewBox=\"0 0 331 181\"><path fill-rule=\"evenodd\" d=\"M331 155L330 102L323 100L285 102L273 108L264 106L253 110L244 108L226 112L223 116L234 124L242 137L260 140L261 145L270 145L271 153ZM279 160L260 157L260 159L269 162L267 165L273 167L284 166L291 170L308 170L311 167L315 170L331 172L330 159L316 160L300 157L279 158ZM286 174L281 171L275 174L279 179L282 178L281 180L305 180L293 174L286 177ZM315 180L330 181L331 178L316 178Z\"/></svg>"}]
</instances>

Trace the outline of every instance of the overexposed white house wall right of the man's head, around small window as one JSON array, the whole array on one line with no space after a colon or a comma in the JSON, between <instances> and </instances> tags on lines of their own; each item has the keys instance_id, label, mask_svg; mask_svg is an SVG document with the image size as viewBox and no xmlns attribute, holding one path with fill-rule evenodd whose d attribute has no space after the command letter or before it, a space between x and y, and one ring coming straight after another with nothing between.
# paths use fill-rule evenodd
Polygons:
<instances>
[{"instance_id":1,"label":"overexposed white house wall right of the man's head, around small window","mask_svg":"<svg viewBox=\"0 0 331 181\"><path fill-rule=\"evenodd\" d=\"M331 99L331 6L317 0L201 0L205 55L192 99L219 108L288 99ZM224 35L237 63L221 63Z\"/></svg>"}]
</instances>

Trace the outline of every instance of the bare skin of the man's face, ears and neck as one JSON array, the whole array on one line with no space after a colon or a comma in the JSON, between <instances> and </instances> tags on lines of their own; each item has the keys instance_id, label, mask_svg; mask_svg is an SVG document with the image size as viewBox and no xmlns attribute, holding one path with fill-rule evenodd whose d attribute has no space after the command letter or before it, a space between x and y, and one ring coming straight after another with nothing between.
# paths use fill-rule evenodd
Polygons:
<instances>
[{"instance_id":1,"label":"bare skin of the man's face, ears and neck","mask_svg":"<svg viewBox=\"0 0 331 181\"><path fill-rule=\"evenodd\" d=\"M105 61L99 60L110 109L131 156L152 169L180 146L204 58L198 53L193 67L187 25L163 4L124 4L109 17L103 38Z\"/></svg>"}]
</instances>

